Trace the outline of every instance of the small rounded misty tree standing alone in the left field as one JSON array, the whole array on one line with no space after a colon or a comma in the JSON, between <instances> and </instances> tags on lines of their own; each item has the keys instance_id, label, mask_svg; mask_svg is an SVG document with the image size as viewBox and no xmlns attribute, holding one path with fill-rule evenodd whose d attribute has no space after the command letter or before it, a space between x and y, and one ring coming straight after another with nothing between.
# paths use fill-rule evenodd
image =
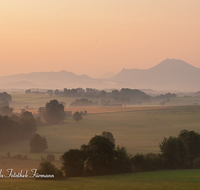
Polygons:
<instances>
[{"instance_id":1,"label":"small rounded misty tree standing alone in the left field","mask_svg":"<svg viewBox=\"0 0 200 190\"><path fill-rule=\"evenodd\" d=\"M46 138L41 137L37 133L31 138L29 144L31 147L30 152L39 153L39 152L44 152L46 149L48 149Z\"/></svg>"}]
</instances>

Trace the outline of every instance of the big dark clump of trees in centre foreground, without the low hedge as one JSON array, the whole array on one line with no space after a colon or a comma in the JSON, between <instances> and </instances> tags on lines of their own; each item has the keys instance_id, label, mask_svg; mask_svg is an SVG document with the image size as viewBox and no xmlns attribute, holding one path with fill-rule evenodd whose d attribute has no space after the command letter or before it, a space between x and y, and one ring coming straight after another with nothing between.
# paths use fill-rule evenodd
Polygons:
<instances>
[{"instance_id":1,"label":"big dark clump of trees in centre foreground, without the low hedge","mask_svg":"<svg viewBox=\"0 0 200 190\"><path fill-rule=\"evenodd\" d=\"M67 177L105 175L132 171L131 157L125 147L117 147L108 138L95 135L81 150L71 149L62 155Z\"/></svg>"}]
</instances>

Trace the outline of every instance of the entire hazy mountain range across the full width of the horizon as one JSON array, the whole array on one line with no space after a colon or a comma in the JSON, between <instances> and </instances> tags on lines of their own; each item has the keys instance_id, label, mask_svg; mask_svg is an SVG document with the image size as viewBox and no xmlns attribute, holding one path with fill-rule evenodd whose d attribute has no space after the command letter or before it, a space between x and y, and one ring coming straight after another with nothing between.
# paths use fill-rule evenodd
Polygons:
<instances>
[{"instance_id":1,"label":"entire hazy mountain range across the full width of the horizon","mask_svg":"<svg viewBox=\"0 0 200 190\"><path fill-rule=\"evenodd\" d=\"M117 75L107 72L95 79L72 72L34 72L0 77L3 89L132 88L153 90L200 90L200 69L184 61L166 59L150 69L123 69ZM113 77L112 77L113 76ZM111 77L108 79L108 77Z\"/></svg>"}]
</instances>

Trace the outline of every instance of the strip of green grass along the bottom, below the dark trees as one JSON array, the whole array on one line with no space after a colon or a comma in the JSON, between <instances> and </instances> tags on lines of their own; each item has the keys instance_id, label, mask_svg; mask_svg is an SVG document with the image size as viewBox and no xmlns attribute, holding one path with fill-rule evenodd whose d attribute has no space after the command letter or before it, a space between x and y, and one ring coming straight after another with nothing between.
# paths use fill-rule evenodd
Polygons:
<instances>
[{"instance_id":1,"label":"strip of green grass along the bottom, below the dark trees","mask_svg":"<svg viewBox=\"0 0 200 190\"><path fill-rule=\"evenodd\" d=\"M197 190L200 170L169 170L67 180L0 179L1 190Z\"/></svg>"}]
</instances>

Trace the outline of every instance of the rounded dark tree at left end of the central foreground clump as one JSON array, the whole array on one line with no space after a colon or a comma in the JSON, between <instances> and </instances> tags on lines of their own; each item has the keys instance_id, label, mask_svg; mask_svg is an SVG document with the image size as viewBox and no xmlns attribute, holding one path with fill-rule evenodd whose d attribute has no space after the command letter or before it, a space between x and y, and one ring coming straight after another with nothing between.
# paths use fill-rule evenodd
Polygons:
<instances>
[{"instance_id":1,"label":"rounded dark tree at left end of the central foreground clump","mask_svg":"<svg viewBox=\"0 0 200 190\"><path fill-rule=\"evenodd\" d=\"M62 155L62 160L62 169L67 177L78 177L83 175L84 157L81 150L70 149Z\"/></svg>"}]
</instances>

